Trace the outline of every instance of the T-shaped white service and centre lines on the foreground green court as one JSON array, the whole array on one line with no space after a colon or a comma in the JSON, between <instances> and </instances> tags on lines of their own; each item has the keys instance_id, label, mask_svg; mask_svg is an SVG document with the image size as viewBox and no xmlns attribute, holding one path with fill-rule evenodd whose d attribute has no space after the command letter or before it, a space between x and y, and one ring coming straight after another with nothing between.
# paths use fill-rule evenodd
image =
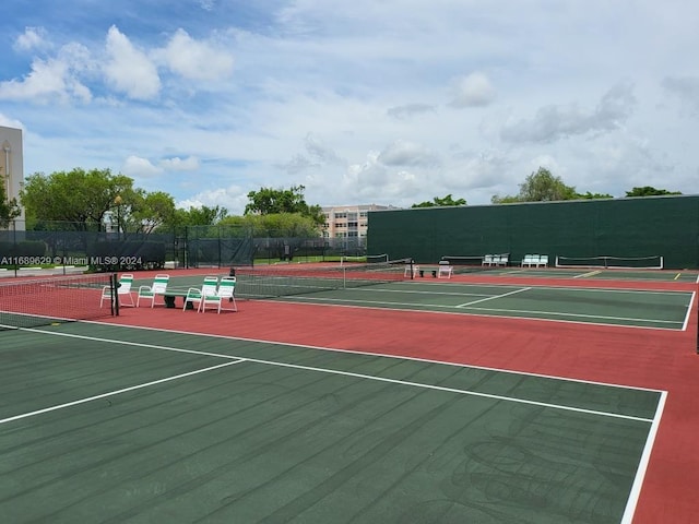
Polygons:
<instances>
[{"instance_id":1,"label":"T-shaped white service and centre lines on the foreground green court","mask_svg":"<svg viewBox=\"0 0 699 524\"><path fill-rule=\"evenodd\" d=\"M433 390L433 391L445 391L445 392L449 392L449 393L458 393L458 394L462 394L462 395L477 396L477 397L482 397L482 398L491 398L491 400L496 400L496 401L513 402L513 403L517 403L517 404L526 404L526 405L533 405L533 406L538 406L538 407L549 407L549 408L553 408L553 409L560 409L560 410L565 410L565 412L574 412L574 413L583 413L583 414L588 414L588 415L599 415L599 416L609 417L609 418L619 418L619 419L626 419L626 420L637 420L637 421L642 421L642 422L652 422L652 419L650 419L650 418L635 417L635 416L631 416L631 415L621 415L621 414L616 414L616 413L599 412L599 410L595 410L595 409L585 409L585 408L581 408L581 407L564 406L564 405L559 405L559 404L549 404L549 403L546 403L546 402L528 401L525 398L518 398L518 397L513 397L513 396L494 395L494 394L490 394L490 393L478 393L478 392L475 392L475 391L460 390L460 389L457 389L457 388L446 388L446 386L441 386L441 385L425 384L425 383L422 383L422 382L411 382L411 381L404 381L404 380L398 380L398 379L388 379L388 378L383 378L383 377L376 377L376 376L372 376L372 374L354 373L354 372L351 372L351 371L339 371L339 370L335 370L335 369L317 368L317 367L312 367L312 366L301 366L301 365L298 365L298 364L277 362L277 361L273 361L273 360L264 360L264 359L247 358L247 357L237 357L237 356L234 356L234 355L212 354L212 353L206 353L206 352L197 352L194 349L180 349L180 348L176 348L176 347L157 346L157 345L154 345L154 344L142 344L142 343L137 343L137 342L116 341L116 340L110 340L110 338L99 338L99 337L94 337L94 336L76 335L76 334L73 334L73 333L54 333L54 332L48 332L48 331L43 331L43 330L35 330L35 329L25 329L24 331L31 331L33 333L42 333L42 334L48 334L48 335L54 335L54 336L67 336L67 337L71 337L71 338L82 338L82 340L94 341L94 342L105 342L105 343L109 343L109 344L120 344L120 345L129 345L129 346L149 347L149 348L152 348L152 349L162 349L162 350L166 350L166 352L189 353L189 354L205 355L205 356L212 356L213 355L213 356L221 356L223 358L236 359L236 360L232 361L232 362L221 364L218 366L213 366L213 367L205 368L205 369L198 370L198 371L190 371L189 373L183 373L183 374L180 374L180 376L177 376L177 377L170 377L170 378L166 378L166 379L161 379L161 380L157 380L157 381L149 382L146 384L126 388L123 390L117 390L117 391L111 392L111 393L104 393L104 394L100 394L100 395L91 396L88 398L83 398L83 400L80 400L80 401L74 401L74 402L70 402L70 403L67 403L67 404L61 404L59 406L54 406L54 407L49 407L49 408L45 408L45 409L39 409L39 410L32 412L32 413L28 413L28 414L16 415L14 417L10 417L10 418L7 418L7 419L1 419L0 424L4 424L4 422L11 421L11 420L16 420L16 419L20 419L20 418L25 418L25 417L28 417L28 416L39 415L42 413L46 413L46 412L50 412L50 410L55 410L55 409L60 409L60 408L63 408L63 407L73 406L75 404L82 404L82 403L94 401L94 400L97 400L97 398L103 398L103 397L108 396L108 395L123 393L123 392L135 390L135 389L139 389L139 388L145 388L147 385L153 385L153 384L157 384L157 383L161 383L161 382L167 382L169 380L175 380L175 379L178 379L178 378L181 378L181 377L187 377L187 376L190 376L190 374L197 374L197 373L201 373L201 372L209 371L209 370L212 370L212 369L221 368L221 367L224 367L224 366L230 366L233 364L240 364L240 362L256 362L256 364L282 367L282 368L303 369L303 370L306 370L306 371L316 371L316 372L329 373L329 374L337 374L337 376L343 376L343 377L353 377L353 378L358 378L358 379L364 379L364 380L372 380L372 381L377 381L377 382L388 382L388 383L392 383L392 384L408 385L408 386L413 386L413 388L423 388L423 389ZM303 347L306 347L306 346L303 346ZM567 379L556 379L556 380L567 380ZM633 389L633 388L631 388L631 389Z\"/></svg>"}]
</instances>

